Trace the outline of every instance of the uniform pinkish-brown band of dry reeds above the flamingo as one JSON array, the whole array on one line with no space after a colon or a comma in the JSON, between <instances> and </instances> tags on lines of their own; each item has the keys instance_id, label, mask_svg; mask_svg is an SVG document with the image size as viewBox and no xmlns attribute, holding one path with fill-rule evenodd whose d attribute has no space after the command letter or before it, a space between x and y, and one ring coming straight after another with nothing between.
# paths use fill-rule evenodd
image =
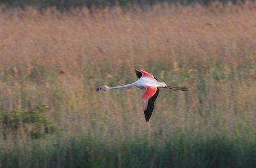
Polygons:
<instances>
[{"instance_id":1,"label":"uniform pinkish-brown band of dry reeds above the flamingo","mask_svg":"<svg viewBox=\"0 0 256 168\"><path fill-rule=\"evenodd\" d=\"M74 73L91 62L114 66L128 60L132 70L147 59L243 61L256 48L253 16L255 3L249 1L93 15L86 8L10 10L0 17L0 66L27 66L29 72L34 63Z\"/></svg>"}]
</instances>

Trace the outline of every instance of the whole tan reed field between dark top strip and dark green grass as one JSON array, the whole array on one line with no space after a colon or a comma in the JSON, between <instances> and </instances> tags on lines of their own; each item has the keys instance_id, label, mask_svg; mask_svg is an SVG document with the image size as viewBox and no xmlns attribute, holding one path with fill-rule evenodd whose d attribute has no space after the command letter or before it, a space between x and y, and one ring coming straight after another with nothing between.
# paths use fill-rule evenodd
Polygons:
<instances>
[{"instance_id":1,"label":"whole tan reed field between dark top strip and dark green grass","mask_svg":"<svg viewBox=\"0 0 256 168\"><path fill-rule=\"evenodd\" d=\"M0 111L49 106L46 116L61 142L77 132L107 146L141 137L164 146L161 140L172 135L253 141L255 15L252 1L125 12L0 11ZM142 91L95 92L102 84L133 82L136 68L189 92L161 91L146 125ZM54 146L51 138L44 142ZM12 137L0 144L6 141Z\"/></svg>"}]
</instances>

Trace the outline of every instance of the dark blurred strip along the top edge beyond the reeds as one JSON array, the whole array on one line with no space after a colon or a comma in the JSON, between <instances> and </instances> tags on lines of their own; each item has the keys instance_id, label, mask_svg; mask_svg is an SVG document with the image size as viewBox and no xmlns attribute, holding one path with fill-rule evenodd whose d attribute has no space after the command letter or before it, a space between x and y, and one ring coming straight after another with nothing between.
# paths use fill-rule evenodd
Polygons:
<instances>
[{"instance_id":1,"label":"dark blurred strip along the top edge beyond the reeds","mask_svg":"<svg viewBox=\"0 0 256 168\"><path fill-rule=\"evenodd\" d=\"M190 4L202 4L209 5L212 2L220 2L222 4L233 3L239 4L244 3L245 0L1 0L0 3L5 4L6 6L18 6L21 8L25 8L25 6L33 6L36 8L46 8L49 6L55 6L58 10L69 10L72 7L83 8L106 8L119 6L124 8L131 7L140 7L147 8L148 6L152 7L154 4L168 3L168 4L182 4L182 5L190 5ZM255 2L251 0L251 2Z\"/></svg>"}]
</instances>

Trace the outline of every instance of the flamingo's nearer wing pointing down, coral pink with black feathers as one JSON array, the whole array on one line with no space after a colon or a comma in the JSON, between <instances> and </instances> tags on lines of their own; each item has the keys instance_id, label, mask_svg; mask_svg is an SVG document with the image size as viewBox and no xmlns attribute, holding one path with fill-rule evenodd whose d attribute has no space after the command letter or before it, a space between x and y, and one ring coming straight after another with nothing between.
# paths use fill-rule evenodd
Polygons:
<instances>
[{"instance_id":1,"label":"flamingo's nearer wing pointing down, coral pink with black feathers","mask_svg":"<svg viewBox=\"0 0 256 168\"><path fill-rule=\"evenodd\" d=\"M154 103L159 94L159 88L154 86L146 86L145 88L146 91L142 95L142 101L145 119L148 122L154 110Z\"/></svg>"}]
</instances>

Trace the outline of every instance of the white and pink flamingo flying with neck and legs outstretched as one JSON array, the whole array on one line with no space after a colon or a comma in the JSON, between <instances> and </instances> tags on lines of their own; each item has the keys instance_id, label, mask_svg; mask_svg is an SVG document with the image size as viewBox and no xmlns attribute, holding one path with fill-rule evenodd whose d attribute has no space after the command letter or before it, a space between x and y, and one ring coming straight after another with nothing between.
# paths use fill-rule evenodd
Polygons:
<instances>
[{"instance_id":1,"label":"white and pink flamingo flying with neck and legs outstretched","mask_svg":"<svg viewBox=\"0 0 256 168\"><path fill-rule=\"evenodd\" d=\"M154 102L159 94L159 88L173 89L179 91L188 91L186 87L174 87L168 86L164 82L157 82L157 79L150 73L145 70L135 70L135 73L138 77L136 82L131 84L125 84L123 86L116 86L109 88L108 86L99 86L96 91L103 90L109 91L112 89L120 89L120 88L130 88L132 86L136 86L140 89L146 89L146 91L141 95L143 102L143 111L145 115L146 122L149 121L152 112L154 110Z\"/></svg>"}]
</instances>

